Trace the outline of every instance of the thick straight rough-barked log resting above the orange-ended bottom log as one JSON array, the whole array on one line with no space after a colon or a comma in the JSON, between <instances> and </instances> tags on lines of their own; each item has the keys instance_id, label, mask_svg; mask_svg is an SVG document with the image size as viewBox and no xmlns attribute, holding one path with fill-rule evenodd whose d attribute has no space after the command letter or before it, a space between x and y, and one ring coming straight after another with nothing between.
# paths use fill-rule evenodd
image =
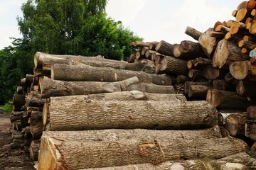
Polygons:
<instances>
[{"instance_id":1,"label":"thick straight rough-barked log resting above the orange-ended bottom log","mask_svg":"<svg viewBox=\"0 0 256 170\"><path fill-rule=\"evenodd\" d=\"M218 125L206 101L66 101L50 98L50 130L198 129Z\"/></svg>"}]
</instances>

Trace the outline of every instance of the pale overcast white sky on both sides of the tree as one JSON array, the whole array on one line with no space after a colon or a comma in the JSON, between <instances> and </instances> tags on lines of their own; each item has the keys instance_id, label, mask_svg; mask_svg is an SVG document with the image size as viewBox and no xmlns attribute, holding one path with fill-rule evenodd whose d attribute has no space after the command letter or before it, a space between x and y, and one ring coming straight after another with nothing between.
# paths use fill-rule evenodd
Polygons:
<instances>
[{"instance_id":1,"label":"pale overcast white sky on both sides of the tree","mask_svg":"<svg viewBox=\"0 0 256 170\"><path fill-rule=\"evenodd\" d=\"M26 0L0 0L0 49L11 45L10 37L21 38L16 17L22 16ZM205 31L216 21L235 20L231 13L242 0L109 0L108 16L122 21L144 41L179 43L193 40L186 26Z\"/></svg>"}]
</instances>

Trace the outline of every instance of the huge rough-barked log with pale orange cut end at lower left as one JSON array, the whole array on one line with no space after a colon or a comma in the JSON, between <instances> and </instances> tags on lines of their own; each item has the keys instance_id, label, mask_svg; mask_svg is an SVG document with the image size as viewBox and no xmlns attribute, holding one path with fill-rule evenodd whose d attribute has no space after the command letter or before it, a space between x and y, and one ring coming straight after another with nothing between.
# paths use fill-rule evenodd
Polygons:
<instances>
[{"instance_id":1,"label":"huge rough-barked log with pale orange cut end at lower left","mask_svg":"<svg viewBox=\"0 0 256 170\"><path fill-rule=\"evenodd\" d=\"M103 141L82 140L86 132L81 135L73 135L73 132L70 132L66 137L72 140L55 136L58 132L52 132L51 135L45 133L41 138L38 169L86 169L206 157L220 159L245 152L247 147L242 140L231 137L201 137L193 135L191 131L193 137L187 140L182 131L178 132L178 137L174 137L172 132L168 132L169 137L164 137L159 132L156 136L144 133L142 138L135 133L124 137L124 140L119 139L117 132Z\"/></svg>"}]
</instances>

